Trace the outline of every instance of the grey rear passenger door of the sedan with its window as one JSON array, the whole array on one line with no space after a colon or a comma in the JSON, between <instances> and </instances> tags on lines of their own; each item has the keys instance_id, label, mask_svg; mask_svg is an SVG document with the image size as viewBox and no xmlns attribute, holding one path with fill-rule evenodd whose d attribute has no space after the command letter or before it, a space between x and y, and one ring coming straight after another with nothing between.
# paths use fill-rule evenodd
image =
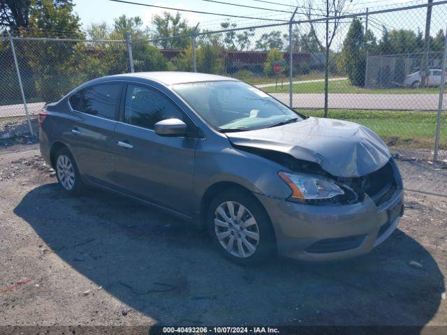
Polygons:
<instances>
[{"instance_id":1,"label":"grey rear passenger door of the sedan with its window","mask_svg":"<svg viewBox=\"0 0 447 335\"><path fill-rule=\"evenodd\" d=\"M78 168L96 184L113 184L114 131L119 115L122 82L94 84L70 98L73 118L68 140Z\"/></svg>"}]
</instances>

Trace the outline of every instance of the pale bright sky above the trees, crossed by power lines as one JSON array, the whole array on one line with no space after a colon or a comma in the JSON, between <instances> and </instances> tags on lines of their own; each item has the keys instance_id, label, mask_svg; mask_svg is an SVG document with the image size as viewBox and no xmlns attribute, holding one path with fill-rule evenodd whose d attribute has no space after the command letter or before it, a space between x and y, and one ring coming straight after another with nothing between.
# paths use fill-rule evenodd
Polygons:
<instances>
[{"instance_id":1,"label":"pale bright sky above the trees, crossed by power lines","mask_svg":"<svg viewBox=\"0 0 447 335\"><path fill-rule=\"evenodd\" d=\"M265 10L254 9L254 8L242 8L236 6L228 6L219 3L212 3L203 0L163 0L163 1L154 1L154 0L131 0L134 2L140 3L148 3L156 6L167 6L173 8L183 8L188 10L202 10L207 12L214 13L226 13L231 15L244 15L244 16L253 16L253 17L272 17L274 15L275 18L278 19L286 19L288 17L287 13L274 13L268 12ZM254 0L219 0L228 3L237 3L244 4L247 6L256 6L262 8L272 8L272 9L281 9L281 10L291 10L286 6L277 6L270 3L263 3ZM269 0L272 2L284 3L286 5L295 5L302 6L303 3L307 2L307 0ZM434 0L435 2L437 0ZM323 0L312 1L313 7L321 6ZM349 2L349 0L346 0ZM379 10L387 7L396 7L396 6L409 6L413 4L425 3L426 0L416 0L416 1L408 1L408 0L353 0L349 4L349 11L357 11L362 10L366 7L369 7L369 10ZM118 17L119 15L126 14L128 16L140 16L142 17L143 22L145 24L150 24L151 17L154 14L163 13L163 9L160 8L149 8L143 6L135 6L127 3L115 3L108 0L74 0L75 3L75 11L81 18L82 24L84 27L87 27L91 23L99 23L99 22L107 22L108 24L112 24L113 19ZM200 22L200 27L210 30L219 29L219 22L223 22L226 20L225 17L219 17L214 15L205 15L198 13L187 13L183 12L182 15L186 17L189 21L189 24L195 25ZM446 20L447 17L447 6L441 5L436 6L433 10L432 15L432 35L434 35L439 29L446 29ZM246 20L246 19L230 19L232 22L237 22L239 27L248 27L250 24L259 25L265 24L269 22L261 21L261 20ZM346 20L345 24L342 24L342 27L339 29L339 33L337 34L337 38L339 41L335 41L335 44L342 43L344 38L344 34L349 27L349 22L351 20ZM425 8L420 8L418 10L406 10L404 12L397 13L388 13L383 15L372 15L370 22L370 29L373 30L374 34L377 38L380 38L382 34L382 26L383 24L390 29L412 29L416 31L418 28L423 30L425 26ZM323 26L323 24L321 24ZM321 27L323 28L323 27ZM286 27L281 27L281 31L286 33ZM305 27L303 27L305 29ZM319 27L317 26L317 30ZM268 32L268 29L258 29L256 33L265 33ZM323 32L324 29L321 29Z\"/></svg>"}]
</instances>

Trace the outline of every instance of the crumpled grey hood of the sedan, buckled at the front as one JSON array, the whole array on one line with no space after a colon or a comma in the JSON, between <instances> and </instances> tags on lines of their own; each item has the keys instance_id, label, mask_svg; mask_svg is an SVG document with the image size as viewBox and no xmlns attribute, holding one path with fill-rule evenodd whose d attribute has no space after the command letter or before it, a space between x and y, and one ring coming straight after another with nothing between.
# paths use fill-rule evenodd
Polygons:
<instances>
[{"instance_id":1,"label":"crumpled grey hood of the sedan, buckled at the front","mask_svg":"<svg viewBox=\"0 0 447 335\"><path fill-rule=\"evenodd\" d=\"M281 151L318 163L336 177L360 177L379 170L390 159L379 136L349 121L309 117L284 126L226 135L237 146Z\"/></svg>"}]
</instances>

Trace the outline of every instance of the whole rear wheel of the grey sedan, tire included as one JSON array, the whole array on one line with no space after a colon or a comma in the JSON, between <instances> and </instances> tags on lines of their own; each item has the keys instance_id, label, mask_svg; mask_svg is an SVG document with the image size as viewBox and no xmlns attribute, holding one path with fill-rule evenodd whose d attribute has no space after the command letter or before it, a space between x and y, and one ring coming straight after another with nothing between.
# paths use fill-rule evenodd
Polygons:
<instances>
[{"instance_id":1,"label":"whole rear wheel of the grey sedan, tire included","mask_svg":"<svg viewBox=\"0 0 447 335\"><path fill-rule=\"evenodd\" d=\"M62 148L55 155L54 168L59 184L64 191L78 195L82 192L82 181L75 163L75 158L67 148Z\"/></svg>"}]
</instances>

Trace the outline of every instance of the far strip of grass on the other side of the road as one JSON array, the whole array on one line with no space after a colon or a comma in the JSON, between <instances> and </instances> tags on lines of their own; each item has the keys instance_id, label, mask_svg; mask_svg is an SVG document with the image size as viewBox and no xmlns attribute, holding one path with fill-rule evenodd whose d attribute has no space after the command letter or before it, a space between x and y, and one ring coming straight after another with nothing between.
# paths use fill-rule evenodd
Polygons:
<instances>
[{"instance_id":1,"label":"far strip of grass on the other side of the road","mask_svg":"<svg viewBox=\"0 0 447 335\"><path fill-rule=\"evenodd\" d=\"M304 80L302 78L298 80ZM439 94L439 88L428 87L423 89L397 88L397 89L365 89L351 85L349 80L336 80L328 83L329 93L353 93L353 94ZM264 87L267 93L288 93L288 83L284 87L278 88ZM293 93L324 93L324 82L307 82L303 84L293 84Z\"/></svg>"}]
</instances>

